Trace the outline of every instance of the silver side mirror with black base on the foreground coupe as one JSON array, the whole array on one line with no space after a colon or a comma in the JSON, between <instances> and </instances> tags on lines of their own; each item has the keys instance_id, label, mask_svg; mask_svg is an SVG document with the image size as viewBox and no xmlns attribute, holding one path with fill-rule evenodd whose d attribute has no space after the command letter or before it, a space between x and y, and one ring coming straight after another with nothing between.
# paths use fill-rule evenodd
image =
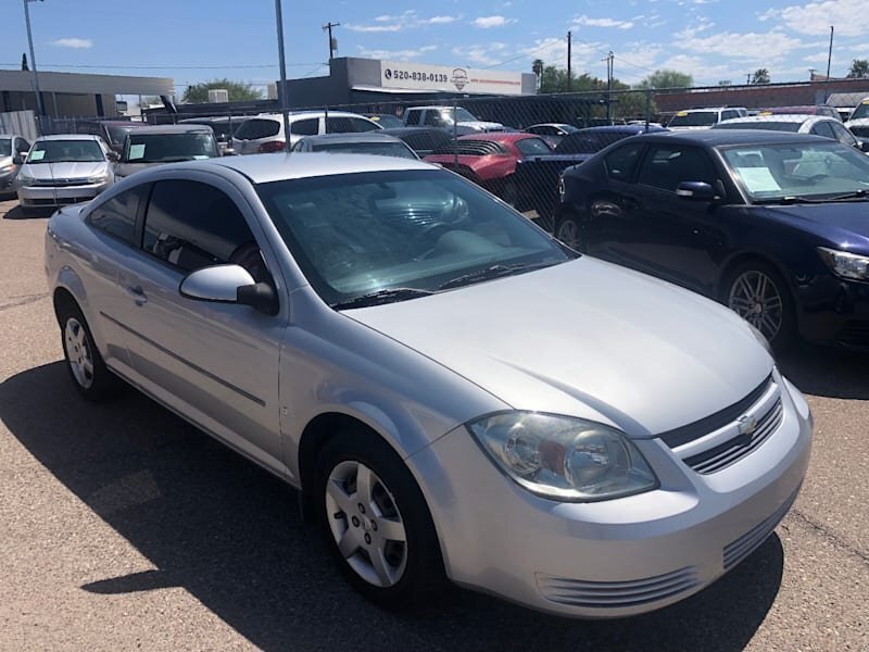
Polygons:
<instances>
[{"instance_id":1,"label":"silver side mirror with black base on the foreground coupe","mask_svg":"<svg viewBox=\"0 0 869 652\"><path fill-rule=\"evenodd\" d=\"M194 301L250 305L267 315L276 315L279 308L275 289L267 283L256 283L241 265L213 265L191 272L178 291Z\"/></svg>"}]
</instances>

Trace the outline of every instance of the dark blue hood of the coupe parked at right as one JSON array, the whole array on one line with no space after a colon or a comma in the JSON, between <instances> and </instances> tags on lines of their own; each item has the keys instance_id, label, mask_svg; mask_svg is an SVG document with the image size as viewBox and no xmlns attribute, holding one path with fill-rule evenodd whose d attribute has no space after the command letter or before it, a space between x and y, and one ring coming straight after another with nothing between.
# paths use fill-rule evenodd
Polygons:
<instances>
[{"instance_id":1,"label":"dark blue hood of the coupe parked at right","mask_svg":"<svg viewBox=\"0 0 869 652\"><path fill-rule=\"evenodd\" d=\"M764 208L790 224L802 222L811 233L836 244L869 251L869 201Z\"/></svg>"}]
</instances>

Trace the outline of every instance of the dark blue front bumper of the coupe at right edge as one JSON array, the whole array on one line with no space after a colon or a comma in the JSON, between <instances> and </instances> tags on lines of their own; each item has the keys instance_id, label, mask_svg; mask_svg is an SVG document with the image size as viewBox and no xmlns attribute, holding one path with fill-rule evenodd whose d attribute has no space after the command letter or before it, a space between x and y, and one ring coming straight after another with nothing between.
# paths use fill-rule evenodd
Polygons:
<instances>
[{"instance_id":1,"label":"dark blue front bumper of the coupe at right edge","mask_svg":"<svg viewBox=\"0 0 869 652\"><path fill-rule=\"evenodd\" d=\"M796 298L803 338L869 350L869 283L819 275L798 286Z\"/></svg>"}]
</instances>

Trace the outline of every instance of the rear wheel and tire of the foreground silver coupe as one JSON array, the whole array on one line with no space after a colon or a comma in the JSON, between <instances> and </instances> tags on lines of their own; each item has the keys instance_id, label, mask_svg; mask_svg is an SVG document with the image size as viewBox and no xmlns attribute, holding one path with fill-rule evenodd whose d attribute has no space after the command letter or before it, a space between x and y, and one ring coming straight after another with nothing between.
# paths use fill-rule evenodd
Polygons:
<instances>
[{"instance_id":1,"label":"rear wheel and tire of the foreground silver coupe","mask_svg":"<svg viewBox=\"0 0 869 652\"><path fill-rule=\"evenodd\" d=\"M66 369L78 392L89 401L102 401L116 396L123 381L109 371L99 349L93 343L85 316L74 303L58 308L61 326L61 344Z\"/></svg>"}]
</instances>

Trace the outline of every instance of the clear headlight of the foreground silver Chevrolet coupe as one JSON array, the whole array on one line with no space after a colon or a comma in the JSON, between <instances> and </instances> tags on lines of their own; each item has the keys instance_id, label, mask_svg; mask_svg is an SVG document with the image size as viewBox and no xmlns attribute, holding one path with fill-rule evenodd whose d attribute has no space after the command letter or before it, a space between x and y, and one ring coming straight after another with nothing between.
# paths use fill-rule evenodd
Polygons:
<instances>
[{"instance_id":1,"label":"clear headlight of the foreground silver Chevrolet coupe","mask_svg":"<svg viewBox=\"0 0 869 652\"><path fill-rule=\"evenodd\" d=\"M603 424L507 412L471 422L467 428L507 476L543 498L608 500L659 486L637 447Z\"/></svg>"}]
</instances>

